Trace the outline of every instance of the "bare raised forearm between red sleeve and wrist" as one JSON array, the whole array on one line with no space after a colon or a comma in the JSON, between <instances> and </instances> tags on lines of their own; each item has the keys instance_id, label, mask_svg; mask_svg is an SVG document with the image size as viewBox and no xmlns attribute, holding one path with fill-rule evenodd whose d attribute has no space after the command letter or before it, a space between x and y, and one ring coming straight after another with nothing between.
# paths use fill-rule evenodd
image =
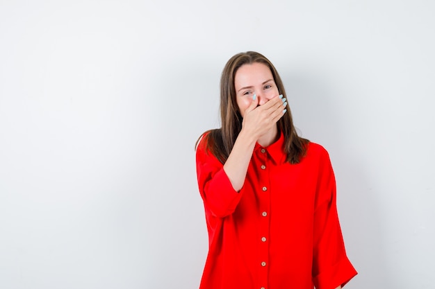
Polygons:
<instances>
[{"instance_id":1,"label":"bare raised forearm between red sleeve and wrist","mask_svg":"<svg viewBox=\"0 0 435 289\"><path fill-rule=\"evenodd\" d=\"M238 135L233 149L224 164L224 171L227 174L233 189L240 191L245 183L247 168L254 151L256 138L244 130Z\"/></svg>"}]
</instances>

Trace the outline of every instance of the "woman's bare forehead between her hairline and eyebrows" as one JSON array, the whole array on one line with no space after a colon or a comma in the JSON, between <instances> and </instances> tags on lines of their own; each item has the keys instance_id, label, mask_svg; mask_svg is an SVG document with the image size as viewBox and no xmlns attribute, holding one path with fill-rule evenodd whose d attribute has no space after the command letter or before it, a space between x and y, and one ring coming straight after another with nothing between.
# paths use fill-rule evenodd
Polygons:
<instances>
[{"instance_id":1,"label":"woman's bare forehead between her hairline and eyebrows","mask_svg":"<svg viewBox=\"0 0 435 289\"><path fill-rule=\"evenodd\" d=\"M272 71L263 63L254 62L252 64L243 64L234 76L234 86L247 87L259 85L266 80L273 80Z\"/></svg>"}]
</instances>

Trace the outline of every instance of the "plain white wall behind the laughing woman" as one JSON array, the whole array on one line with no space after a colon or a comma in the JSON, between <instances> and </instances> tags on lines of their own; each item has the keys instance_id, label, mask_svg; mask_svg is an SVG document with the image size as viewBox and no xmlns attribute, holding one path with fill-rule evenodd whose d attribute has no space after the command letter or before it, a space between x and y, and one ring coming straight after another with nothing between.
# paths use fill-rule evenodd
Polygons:
<instances>
[{"instance_id":1,"label":"plain white wall behind the laughing woman","mask_svg":"<svg viewBox=\"0 0 435 289\"><path fill-rule=\"evenodd\" d=\"M331 155L347 288L434 288L435 2L1 1L0 288L197 288L194 144L254 50Z\"/></svg>"}]
</instances>

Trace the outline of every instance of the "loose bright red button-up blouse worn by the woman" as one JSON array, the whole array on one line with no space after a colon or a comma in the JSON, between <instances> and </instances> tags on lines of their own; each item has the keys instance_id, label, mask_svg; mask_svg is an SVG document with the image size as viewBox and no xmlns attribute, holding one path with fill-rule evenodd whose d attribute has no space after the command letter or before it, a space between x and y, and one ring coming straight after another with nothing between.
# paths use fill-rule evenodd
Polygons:
<instances>
[{"instance_id":1,"label":"loose bright red button-up blouse worn by the woman","mask_svg":"<svg viewBox=\"0 0 435 289\"><path fill-rule=\"evenodd\" d=\"M204 141L197 148L209 251L200 289L335 289L356 275L336 210L336 183L325 148L309 143L286 162L284 137L258 143L240 192Z\"/></svg>"}]
</instances>

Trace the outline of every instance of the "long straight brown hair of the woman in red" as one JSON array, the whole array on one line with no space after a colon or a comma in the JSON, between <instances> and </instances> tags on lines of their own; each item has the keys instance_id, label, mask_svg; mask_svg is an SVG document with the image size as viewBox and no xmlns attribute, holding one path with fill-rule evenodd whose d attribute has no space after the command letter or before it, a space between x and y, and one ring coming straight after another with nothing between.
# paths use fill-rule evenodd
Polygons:
<instances>
[{"instance_id":1,"label":"long straight brown hair of the woman in red","mask_svg":"<svg viewBox=\"0 0 435 289\"><path fill-rule=\"evenodd\" d=\"M234 77L240 67L244 64L252 63L262 63L269 67L279 93L285 98L287 97L277 69L265 56L254 51L247 51L246 53L238 53L228 60L220 79L220 119L222 121L222 128L208 130L201 136L204 136L206 150L209 150L222 164L227 161L238 134L242 130L243 118L236 102ZM290 107L287 105L286 109L286 114L279 119L277 124L278 129L284 134L283 150L287 155L286 161L290 164L297 164L306 155L306 145L309 143L309 140L302 139L297 135ZM201 137L199 137L197 143Z\"/></svg>"}]
</instances>

